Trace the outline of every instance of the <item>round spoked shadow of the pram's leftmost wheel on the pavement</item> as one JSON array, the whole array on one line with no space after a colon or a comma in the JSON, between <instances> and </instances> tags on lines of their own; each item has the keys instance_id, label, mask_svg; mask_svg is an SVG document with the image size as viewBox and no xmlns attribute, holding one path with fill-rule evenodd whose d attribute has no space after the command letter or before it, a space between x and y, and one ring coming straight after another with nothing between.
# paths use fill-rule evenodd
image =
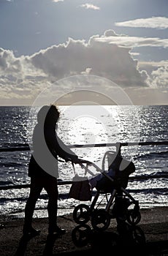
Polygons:
<instances>
[{"instance_id":1,"label":"round spoked shadow of the pram's leftmost wheel on the pavement","mask_svg":"<svg viewBox=\"0 0 168 256\"><path fill-rule=\"evenodd\" d=\"M77 247L83 247L88 244L91 236L91 227L88 225L79 225L72 230L72 241Z\"/></svg>"}]
</instances>

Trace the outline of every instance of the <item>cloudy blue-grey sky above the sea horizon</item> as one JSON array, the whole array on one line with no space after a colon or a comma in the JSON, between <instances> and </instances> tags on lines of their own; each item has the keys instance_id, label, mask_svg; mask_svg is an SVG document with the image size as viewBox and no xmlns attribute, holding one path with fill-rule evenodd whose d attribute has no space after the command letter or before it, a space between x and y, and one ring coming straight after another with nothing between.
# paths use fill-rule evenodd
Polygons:
<instances>
[{"instance_id":1,"label":"cloudy blue-grey sky above the sea horizon","mask_svg":"<svg viewBox=\"0 0 168 256\"><path fill-rule=\"evenodd\" d=\"M167 10L167 0L0 0L0 105L167 105Z\"/></svg>"}]
</instances>

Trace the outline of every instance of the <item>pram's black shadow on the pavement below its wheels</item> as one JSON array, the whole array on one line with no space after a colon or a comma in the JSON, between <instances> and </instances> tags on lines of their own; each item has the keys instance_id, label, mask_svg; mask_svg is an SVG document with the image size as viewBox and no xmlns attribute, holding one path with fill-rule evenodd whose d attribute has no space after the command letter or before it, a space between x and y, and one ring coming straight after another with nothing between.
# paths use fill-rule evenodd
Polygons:
<instances>
[{"instance_id":1,"label":"pram's black shadow on the pavement below its wheels","mask_svg":"<svg viewBox=\"0 0 168 256\"><path fill-rule=\"evenodd\" d=\"M167 241L147 243L145 234L137 225L118 225L117 231L95 231L88 225L78 225L72 230L72 241L75 246L82 248L91 245L90 252L97 255L168 255ZM79 253L79 252L78 252ZM86 253L85 249L80 255ZM66 254L64 254L66 255ZM77 255L70 253L69 255Z\"/></svg>"}]
</instances>

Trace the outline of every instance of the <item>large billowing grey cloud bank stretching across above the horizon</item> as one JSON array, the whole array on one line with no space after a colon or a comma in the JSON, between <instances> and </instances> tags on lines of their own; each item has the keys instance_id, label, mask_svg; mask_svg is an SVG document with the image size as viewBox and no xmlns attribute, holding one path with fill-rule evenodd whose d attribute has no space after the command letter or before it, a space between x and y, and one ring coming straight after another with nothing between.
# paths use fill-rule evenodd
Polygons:
<instances>
[{"instance_id":1,"label":"large billowing grey cloud bank stretching across above the horizon","mask_svg":"<svg viewBox=\"0 0 168 256\"><path fill-rule=\"evenodd\" d=\"M12 50L0 48L1 104L18 104L18 100L22 105L26 102L31 104L51 83L73 75L92 75L111 80L128 91L131 97L134 94L134 102L140 88L142 91L146 88L164 89L162 94L167 94L167 61L138 63L131 56L131 48L110 43L111 37L118 39L126 35L108 30L102 36L94 35L88 42L69 38L64 44L18 58ZM69 86L73 88L73 83ZM96 88L96 83L93 86ZM58 91L64 91L64 84L58 87ZM156 97L153 99L156 100Z\"/></svg>"}]
</instances>

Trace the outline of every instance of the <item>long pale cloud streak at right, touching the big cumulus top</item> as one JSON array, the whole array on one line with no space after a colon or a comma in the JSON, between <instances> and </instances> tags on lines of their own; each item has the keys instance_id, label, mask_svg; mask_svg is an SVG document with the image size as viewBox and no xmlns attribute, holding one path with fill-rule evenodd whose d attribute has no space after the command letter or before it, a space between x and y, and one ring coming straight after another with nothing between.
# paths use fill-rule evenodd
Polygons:
<instances>
[{"instance_id":1,"label":"long pale cloud streak at right, touching the big cumulus top","mask_svg":"<svg viewBox=\"0 0 168 256\"><path fill-rule=\"evenodd\" d=\"M129 37L125 34L116 34L112 30L106 31L104 35L98 37L96 41L128 48L143 46L168 47L168 39L160 39L159 37Z\"/></svg>"}]
</instances>

